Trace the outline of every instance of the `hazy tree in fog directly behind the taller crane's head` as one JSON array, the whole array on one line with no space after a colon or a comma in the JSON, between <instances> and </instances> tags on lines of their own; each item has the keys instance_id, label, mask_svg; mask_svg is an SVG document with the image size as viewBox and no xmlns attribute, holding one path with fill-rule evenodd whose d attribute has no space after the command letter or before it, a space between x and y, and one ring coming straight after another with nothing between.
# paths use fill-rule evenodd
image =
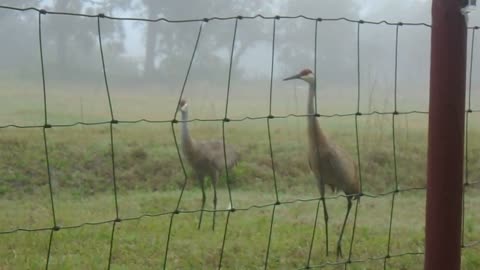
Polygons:
<instances>
[{"instance_id":1,"label":"hazy tree in fog directly behind the taller crane's head","mask_svg":"<svg viewBox=\"0 0 480 270\"><path fill-rule=\"evenodd\" d=\"M308 7L308 8L307 8ZM359 6L352 1L289 1L288 15L303 14L313 18L358 18ZM281 22L281 21L280 21ZM295 20L279 26L278 51L281 69L314 68L315 21ZM345 73L353 74L356 67L356 24L336 21L318 22L317 76L322 83L338 83Z\"/></svg>"}]
</instances>

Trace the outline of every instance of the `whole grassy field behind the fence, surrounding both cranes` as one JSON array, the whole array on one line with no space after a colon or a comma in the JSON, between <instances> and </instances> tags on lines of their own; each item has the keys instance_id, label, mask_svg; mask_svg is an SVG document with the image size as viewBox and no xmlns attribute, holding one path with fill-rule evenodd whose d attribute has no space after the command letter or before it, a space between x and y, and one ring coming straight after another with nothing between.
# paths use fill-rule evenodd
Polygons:
<instances>
[{"instance_id":1,"label":"whole grassy field behind the fence, surrounding both cranes","mask_svg":"<svg viewBox=\"0 0 480 270\"><path fill-rule=\"evenodd\" d=\"M37 93L38 94L38 93ZM40 92L41 94L41 92ZM58 95L57 95L58 94ZM28 91L3 94L0 126L8 124L42 125L41 95ZM101 102L98 96L102 95ZM262 94L263 95L263 94ZM190 95L193 118L223 118L223 106L208 97ZM155 97L152 98L152 97ZM265 99L267 97L267 99ZM156 102L156 101L159 102ZM176 97L114 95L116 119L171 120ZM304 113L304 94L297 104L272 105L275 115ZM5 101L5 102L3 102ZM268 114L268 95L256 102L233 100L232 119L246 115ZM335 112L335 106L325 110ZM104 92L87 91L83 97L65 92L51 94L49 123L108 121L109 110ZM173 104L173 105L172 105ZM250 106L250 107L249 107ZM253 107L252 107L253 106ZM267 106L267 107L266 107ZM251 108L251 109L248 109ZM252 109L253 108L253 109ZM321 107L324 108L324 107ZM350 112L340 106L342 112ZM392 143L392 115L365 115L358 119L358 149L354 116L322 117L321 124L329 137L360 160L362 197L357 208L355 237L351 259L384 257L388 252L390 215L392 217L388 269L422 269L425 219L426 114L395 117L396 166ZM468 178L477 184L466 188L464 241L480 240L480 135L479 117L469 118ZM190 125L197 139L221 138L222 122L194 121ZM241 161L230 173L234 207L226 234L222 266L224 269L263 268L267 255L272 204L276 201L268 267L297 269L307 265L312 231L318 205L318 191L306 160L305 119L302 117L270 120L271 144L266 119L225 123L225 140L235 146ZM165 260L166 240L183 183L186 190L180 202L179 215L172 223L166 265L169 269L212 269L218 266L224 239L226 212L217 214L217 227L211 230L211 213L206 213L200 230L196 229L201 193L182 169L174 134L178 125L166 123L120 123L113 127L115 179L119 216L113 242L113 269L161 268ZM88 225L115 218L112 153L108 124L54 127L46 130L53 202L57 224L64 228L53 235L50 269L104 269L108 263L112 223ZM45 149L40 128L0 129L0 232L41 229L52 226L52 209L48 188ZM272 156L273 164L272 167ZM273 170L273 168L275 170ZM221 181L219 206L228 206L228 190ZM395 190L392 209L392 194ZM417 190L417 188L419 188ZM414 189L414 190L411 190ZM313 240L310 265L335 262L337 240L346 201L328 194L329 250L325 255L325 233L322 211ZM299 201L304 199L306 201ZM311 200L310 200L311 199ZM207 193L211 208L211 191ZM262 206L253 207L252 206ZM248 210L241 210L248 209ZM354 213L354 212L352 212ZM154 217L143 215L156 215ZM125 220L132 218L132 220ZM349 254L354 214L344 235L344 254ZM50 231L0 234L0 269L44 268ZM463 249L462 269L480 268L480 245ZM346 259L346 258L344 258ZM349 269L383 269L384 260L352 263ZM343 265L326 266L340 269Z\"/></svg>"}]
</instances>

